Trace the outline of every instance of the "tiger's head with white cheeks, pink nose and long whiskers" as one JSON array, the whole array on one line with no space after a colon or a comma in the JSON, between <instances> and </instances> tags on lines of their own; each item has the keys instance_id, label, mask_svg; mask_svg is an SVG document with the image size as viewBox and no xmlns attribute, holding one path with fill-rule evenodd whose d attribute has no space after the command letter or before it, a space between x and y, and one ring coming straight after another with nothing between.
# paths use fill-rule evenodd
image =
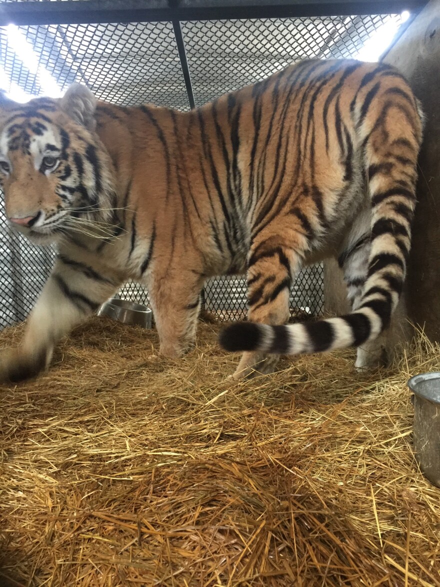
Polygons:
<instances>
[{"instance_id":1,"label":"tiger's head with white cheeks, pink nose and long whiskers","mask_svg":"<svg viewBox=\"0 0 440 587\"><path fill-rule=\"evenodd\" d=\"M35 244L90 231L114 207L113 166L95 126L96 99L74 84L61 99L0 96L0 187L12 227Z\"/></svg>"}]
</instances>

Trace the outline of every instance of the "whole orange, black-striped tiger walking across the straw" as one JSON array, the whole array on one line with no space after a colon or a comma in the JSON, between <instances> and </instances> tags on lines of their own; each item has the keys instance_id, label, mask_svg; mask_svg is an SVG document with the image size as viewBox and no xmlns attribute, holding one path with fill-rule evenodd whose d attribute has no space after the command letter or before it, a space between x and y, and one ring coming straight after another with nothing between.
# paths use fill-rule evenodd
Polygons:
<instances>
[{"instance_id":1,"label":"whole orange, black-striped tiger walking across the straw","mask_svg":"<svg viewBox=\"0 0 440 587\"><path fill-rule=\"evenodd\" d=\"M127 281L147 288L159 352L177 359L194 346L205 281L234 274L247 276L248 321L219 336L243 351L234 380L348 346L368 366L404 284L422 130L404 77L357 60L297 62L188 111L117 106L78 83L25 104L3 94L6 217L57 254L0 379L48 369ZM293 279L329 257L351 312L286 326Z\"/></svg>"}]
</instances>

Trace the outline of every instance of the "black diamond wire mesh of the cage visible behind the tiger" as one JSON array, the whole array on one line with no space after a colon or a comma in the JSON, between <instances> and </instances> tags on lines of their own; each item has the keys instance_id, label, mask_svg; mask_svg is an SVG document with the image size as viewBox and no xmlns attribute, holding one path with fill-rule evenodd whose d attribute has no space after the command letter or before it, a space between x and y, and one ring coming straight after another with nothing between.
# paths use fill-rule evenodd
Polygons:
<instances>
[{"instance_id":1,"label":"black diamond wire mesh of the cage visible behind the tiger","mask_svg":"<svg viewBox=\"0 0 440 587\"><path fill-rule=\"evenodd\" d=\"M72 1L50 2L52 22L62 18L53 8ZM22 11L19 21L29 22L0 27L0 86L10 93L38 96L47 95L48 87L61 91L76 81L90 87L99 99L116 104L151 102L181 110L201 106L300 59L357 56L375 32L385 26L397 31L402 23L400 14L275 18L273 5L274 18L127 22L127 16L125 23L33 24L39 19L31 12L26 21L31 4L42 2L0 1L1 23L7 22L11 5L13 14L20 16ZM93 4L96 1L74 2L79 13ZM84 18L87 14L79 20ZM46 14L43 20L51 22L51 17ZM32 308L55 251L36 248L11 232L3 207L0 229L0 328L4 328L23 320ZM139 284L127 284L119 295L148 303L148 292ZM245 278L210 279L204 305L219 319L243 318ZM290 312L295 316L322 311L323 269L317 265L303 269L296 279Z\"/></svg>"}]
</instances>

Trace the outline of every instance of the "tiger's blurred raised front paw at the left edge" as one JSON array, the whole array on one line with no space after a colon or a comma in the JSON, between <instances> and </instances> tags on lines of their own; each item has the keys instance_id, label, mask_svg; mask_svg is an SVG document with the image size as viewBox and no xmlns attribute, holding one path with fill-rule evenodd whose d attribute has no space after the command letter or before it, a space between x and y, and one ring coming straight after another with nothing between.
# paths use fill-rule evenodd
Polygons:
<instances>
[{"instance_id":1,"label":"tiger's blurred raised front paw at the left edge","mask_svg":"<svg viewBox=\"0 0 440 587\"><path fill-rule=\"evenodd\" d=\"M4 349L0 354L0 383L18 383L46 369L52 353L40 350L26 353L22 348Z\"/></svg>"}]
</instances>

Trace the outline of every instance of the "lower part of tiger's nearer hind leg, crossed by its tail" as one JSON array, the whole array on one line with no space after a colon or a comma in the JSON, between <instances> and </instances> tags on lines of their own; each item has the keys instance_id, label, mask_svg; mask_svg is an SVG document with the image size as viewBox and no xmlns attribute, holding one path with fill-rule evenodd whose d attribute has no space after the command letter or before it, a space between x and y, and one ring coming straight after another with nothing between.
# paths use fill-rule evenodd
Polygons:
<instances>
[{"instance_id":1,"label":"lower part of tiger's nearer hind leg, crossed by its tail","mask_svg":"<svg viewBox=\"0 0 440 587\"><path fill-rule=\"evenodd\" d=\"M280 237L259 239L248 264L249 321L272 326L287 323L290 285L298 268L299 255ZM232 379L268 375L275 372L278 361L279 355L245 352Z\"/></svg>"}]
</instances>

